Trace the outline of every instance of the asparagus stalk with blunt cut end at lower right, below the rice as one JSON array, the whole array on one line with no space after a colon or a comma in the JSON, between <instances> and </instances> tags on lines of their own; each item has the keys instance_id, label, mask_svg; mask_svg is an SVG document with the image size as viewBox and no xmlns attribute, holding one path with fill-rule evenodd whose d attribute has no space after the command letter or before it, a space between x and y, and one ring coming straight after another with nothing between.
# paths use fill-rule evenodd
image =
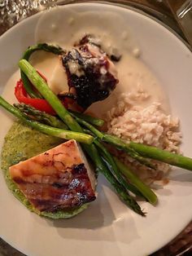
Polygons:
<instances>
[{"instance_id":1,"label":"asparagus stalk with blunt cut end at lower right, below the rice","mask_svg":"<svg viewBox=\"0 0 192 256\"><path fill-rule=\"evenodd\" d=\"M151 190L151 188L143 183L136 174L129 170L128 166L124 166L124 164L116 157L114 157L114 160L116 162L118 170L120 170L120 172L124 174L124 176L129 180L130 183L132 183L140 192L142 192L142 195L146 197L147 201L149 201L152 205L155 205L158 199L155 193Z\"/></svg>"}]
</instances>

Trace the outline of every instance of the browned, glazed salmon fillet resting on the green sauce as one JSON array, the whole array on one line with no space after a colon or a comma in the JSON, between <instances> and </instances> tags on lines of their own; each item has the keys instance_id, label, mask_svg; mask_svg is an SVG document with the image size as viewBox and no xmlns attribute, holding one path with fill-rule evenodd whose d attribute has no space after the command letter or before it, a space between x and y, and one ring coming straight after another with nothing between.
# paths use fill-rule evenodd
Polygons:
<instances>
[{"instance_id":1,"label":"browned, glazed salmon fillet resting on the green sauce","mask_svg":"<svg viewBox=\"0 0 192 256\"><path fill-rule=\"evenodd\" d=\"M96 198L94 171L75 140L20 161L9 171L24 196L40 211L71 210Z\"/></svg>"}]
</instances>

